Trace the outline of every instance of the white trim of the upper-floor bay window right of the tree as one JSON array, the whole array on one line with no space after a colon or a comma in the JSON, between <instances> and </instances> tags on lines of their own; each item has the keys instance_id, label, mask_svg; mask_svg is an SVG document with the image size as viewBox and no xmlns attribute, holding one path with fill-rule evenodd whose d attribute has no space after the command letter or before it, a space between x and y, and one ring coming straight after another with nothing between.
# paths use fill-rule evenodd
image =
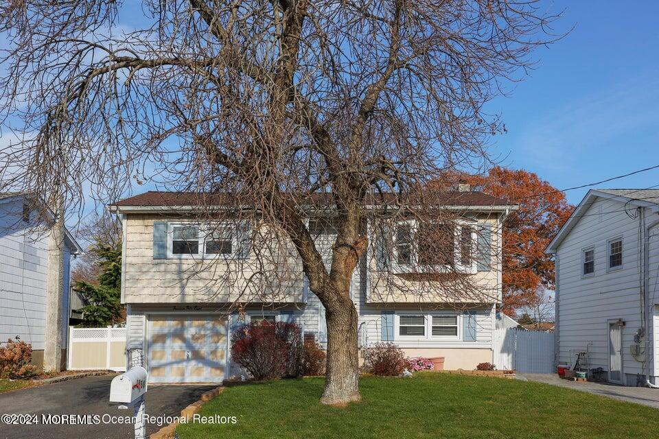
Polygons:
<instances>
[{"instance_id":1,"label":"white trim of the upper-floor bay window right of the tree","mask_svg":"<svg viewBox=\"0 0 659 439\"><path fill-rule=\"evenodd\" d=\"M478 263L476 261L476 252L478 252L478 235L476 233L476 229L478 228L478 223L477 222L471 222L467 221L465 219L454 219L451 221L454 224L453 228L453 255L454 255L454 267L456 270L459 272L467 273L467 274L476 274L476 270L478 268ZM398 237L398 226L403 225L403 224L408 224L410 226L410 231L411 231L411 252L412 252L412 263L410 264L401 264L398 262L398 246L397 246L397 237ZM462 237L462 228L463 226L468 226L472 228L472 257L471 257L471 263L470 265L463 265L462 264L462 243L461 243L461 237ZM402 219L400 221L395 222L394 227L393 227L393 233L392 233L392 257L391 257L391 265L394 270L394 272L397 273L408 273L408 272L416 272L420 268L423 268L424 270L430 271L430 272L436 272L436 273L441 273L441 272L450 272L451 268L450 265L421 265L419 264L419 243L417 239L415 239L417 235L417 230L419 228L419 221L417 219Z\"/></svg>"}]
</instances>

